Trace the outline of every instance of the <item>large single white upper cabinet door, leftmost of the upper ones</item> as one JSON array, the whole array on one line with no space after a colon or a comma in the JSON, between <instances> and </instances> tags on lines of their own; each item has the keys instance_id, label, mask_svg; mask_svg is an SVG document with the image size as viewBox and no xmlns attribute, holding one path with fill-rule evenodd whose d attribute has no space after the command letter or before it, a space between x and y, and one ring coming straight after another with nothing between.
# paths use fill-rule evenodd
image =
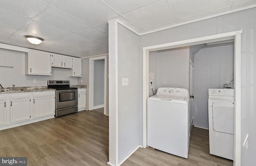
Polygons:
<instances>
[{"instance_id":1,"label":"large single white upper cabinet door, leftmost of the upper ones","mask_svg":"<svg viewBox=\"0 0 256 166\"><path fill-rule=\"evenodd\" d=\"M30 74L51 75L51 55L44 51L30 50Z\"/></svg>"}]
</instances>

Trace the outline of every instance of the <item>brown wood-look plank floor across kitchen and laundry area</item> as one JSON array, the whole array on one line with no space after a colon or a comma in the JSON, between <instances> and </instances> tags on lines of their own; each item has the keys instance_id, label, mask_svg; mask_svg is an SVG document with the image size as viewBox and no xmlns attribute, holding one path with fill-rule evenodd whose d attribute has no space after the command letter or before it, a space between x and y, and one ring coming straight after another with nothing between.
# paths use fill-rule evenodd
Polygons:
<instances>
[{"instance_id":1,"label":"brown wood-look plank floor across kitchen and laundry area","mask_svg":"<svg viewBox=\"0 0 256 166\"><path fill-rule=\"evenodd\" d=\"M209 154L208 131L194 127L188 159L139 148L121 166L232 166ZM1 157L28 157L28 166L107 166L108 116L80 111L0 131Z\"/></svg>"}]
</instances>

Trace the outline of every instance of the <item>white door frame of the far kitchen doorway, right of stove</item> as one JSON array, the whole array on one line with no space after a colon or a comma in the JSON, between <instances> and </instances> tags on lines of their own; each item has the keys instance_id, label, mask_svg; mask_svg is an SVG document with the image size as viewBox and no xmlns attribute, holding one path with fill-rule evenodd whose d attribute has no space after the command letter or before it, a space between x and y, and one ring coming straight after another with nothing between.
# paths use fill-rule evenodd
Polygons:
<instances>
[{"instance_id":1,"label":"white door frame of the far kitchen doorway, right of stove","mask_svg":"<svg viewBox=\"0 0 256 166\"><path fill-rule=\"evenodd\" d=\"M89 58L89 101L88 109L92 110L93 108L93 99L94 99L94 61L104 60L104 115L106 115L106 94L107 94L107 56L99 56Z\"/></svg>"}]
</instances>

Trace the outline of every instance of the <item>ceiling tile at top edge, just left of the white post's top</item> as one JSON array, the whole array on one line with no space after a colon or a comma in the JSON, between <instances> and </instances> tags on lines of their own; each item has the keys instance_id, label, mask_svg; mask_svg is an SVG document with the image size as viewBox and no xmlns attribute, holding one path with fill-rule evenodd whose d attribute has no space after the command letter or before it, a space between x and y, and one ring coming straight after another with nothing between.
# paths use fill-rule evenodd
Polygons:
<instances>
[{"instance_id":1,"label":"ceiling tile at top edge, just left of the white post's top","mask_svg":"<svg viewBox=\"0 0 256 166\"><path fill-rule=\"evenodd\" d=\"M90 25L118 16L116 12L99 0L61 0L54 7Z\"/></svg>"}]
</instances>

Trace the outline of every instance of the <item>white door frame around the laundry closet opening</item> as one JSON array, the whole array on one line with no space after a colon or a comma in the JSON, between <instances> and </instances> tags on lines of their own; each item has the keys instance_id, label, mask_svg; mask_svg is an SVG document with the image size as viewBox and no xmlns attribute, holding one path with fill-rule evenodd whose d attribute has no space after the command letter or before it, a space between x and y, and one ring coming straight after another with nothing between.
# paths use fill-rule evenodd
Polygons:
<instances>
[{"instance_id":1,"label":"white door frame around the laundry closet opening","mask_svg":"<svg viewBox=\"0 0 256 166\"><path fill-rule=\"evenodd\" d=\"M234 166L241 166L241 34L242 30L143 47L143 147L147 147L149 52L234 39Z\"/></svg>"}]
</instances>

